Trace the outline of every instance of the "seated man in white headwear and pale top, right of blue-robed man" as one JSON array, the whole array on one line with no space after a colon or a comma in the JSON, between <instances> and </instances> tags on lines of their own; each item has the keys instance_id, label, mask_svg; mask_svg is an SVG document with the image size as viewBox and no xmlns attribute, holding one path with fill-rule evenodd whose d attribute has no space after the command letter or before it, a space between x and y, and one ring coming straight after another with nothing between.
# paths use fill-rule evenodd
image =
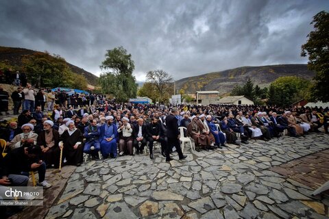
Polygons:
<instances>
[{"instance_id":1,"label":"seated man in white headwear and pale top, right of blue-robed man","mask_svg":"<svg viewBox=\"0 0 329 219\"><path fill-rule=\"evenodd\" d=\"M134 140L132 137L132 125L129 123L129 118L122 118L122 125L118 129L119 133L119 155L123 154L134 155L134 150L132 148L132 141Z\"/></svg>"}]
</instances>

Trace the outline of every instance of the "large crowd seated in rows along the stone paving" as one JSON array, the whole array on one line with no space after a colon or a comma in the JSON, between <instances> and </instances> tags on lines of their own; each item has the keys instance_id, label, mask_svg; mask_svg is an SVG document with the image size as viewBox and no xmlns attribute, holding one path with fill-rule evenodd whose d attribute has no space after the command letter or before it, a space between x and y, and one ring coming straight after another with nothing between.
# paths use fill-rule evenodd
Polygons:
<instances>
[{"instance_id":1,"label":"large crowd seated in rows along the stone paving","mask_svg":"<svg viewBox=\"0 0 329 219\"><path fill-rule=\"evenodd\" d=\"M194 140L195 150L221 149L228 144L248 144L249 139L279 138L285 130L299 137L324 126L328 133L328 109L233 105L134 105L130 103L93 105L80 110L62 110L55 105L48 115L37 106L34 112L23 110L18 122L2 128L0 138L7 142L8 153L0 156L0 185L27 185L29 171L38 171L38 185L49 188L46 168L62 165L80 166L87 153L103 159L118 155L138 155L149 147L154 159L154 142L166 161L177 150L179 159L186 158L180 148L180 131ZM90 110L93 108L93 111ZM278 116L280 114L280 116ZM51 117L51 118L49 118ZM182 136L182 137L184 137ZM238 142L238 138L241 141ZM62 160L60 153L62 151Z\"/></svg>"}]
</instances>

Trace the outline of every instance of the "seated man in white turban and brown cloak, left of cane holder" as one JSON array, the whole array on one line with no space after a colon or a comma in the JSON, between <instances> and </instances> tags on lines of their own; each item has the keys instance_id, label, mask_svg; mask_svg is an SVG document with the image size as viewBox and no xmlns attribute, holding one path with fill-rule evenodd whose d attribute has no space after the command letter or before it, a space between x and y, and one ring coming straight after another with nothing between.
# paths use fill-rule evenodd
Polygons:
<instances>
[{"instance_id":1,"label":"seated man in white turban and brown cloak, left of cane holder","mask_svg":"<svg viewBox=\"0 0 329 219\"><path fill-rule=\"evenodd\" d=\"M60 133L53 129L53 121L45 120L43 123L43 131L38 136L38 145L42 150L42 157L45 159L47 167L52 165L58 168L60 165Z\"/></svg>"}]
</instances>

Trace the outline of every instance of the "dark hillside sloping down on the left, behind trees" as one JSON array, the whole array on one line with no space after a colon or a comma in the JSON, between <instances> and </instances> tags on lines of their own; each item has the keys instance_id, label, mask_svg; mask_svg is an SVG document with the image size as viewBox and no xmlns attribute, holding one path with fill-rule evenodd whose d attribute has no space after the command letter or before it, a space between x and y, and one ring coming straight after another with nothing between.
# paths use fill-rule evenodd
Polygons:
<instances>
[{"instance_id":1,"label":"dark hillside sloping down on the left, behind trees","mask_svg":"<svg viewBox=\"0 0 329 219\"><path fill-rule=\"evenodd\" d=\"M14 47L0 47L0 62L8 60L8 64L12 66L22 66L23 55L32 55L34 53L40 53L39 51L33 51L30 49L14 48ZM78 75L83 75L90 85L96 86L98 77L89 73L88 71L79 68L69 62L66 62L71 68L73 73Z\"/></svg>"}]
</instances>

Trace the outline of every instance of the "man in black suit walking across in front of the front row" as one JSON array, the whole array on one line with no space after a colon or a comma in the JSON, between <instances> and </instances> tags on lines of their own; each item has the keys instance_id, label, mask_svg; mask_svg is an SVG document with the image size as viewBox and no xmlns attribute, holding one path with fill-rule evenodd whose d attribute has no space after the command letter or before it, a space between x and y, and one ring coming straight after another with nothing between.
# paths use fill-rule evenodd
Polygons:
<instances>
[{"instance_id":1,"label":"man in black suit walking across in front of the front row","mask_svg":"<svg viewBox=\"0 0 329 219\"><path fill-rule=\"evenodd\" d=\"M166 116L166 126L167 126L167 138L168 144L166 149L166 162L170 162L172 158L169 155L169 146L175 146L176 151L178 152L178 156L180 159L185 159L187 156L183 155L182 149L180 148L180 131L178 129L178 109L171 109L171 113Z\"/></svg>"}]
</instances>

